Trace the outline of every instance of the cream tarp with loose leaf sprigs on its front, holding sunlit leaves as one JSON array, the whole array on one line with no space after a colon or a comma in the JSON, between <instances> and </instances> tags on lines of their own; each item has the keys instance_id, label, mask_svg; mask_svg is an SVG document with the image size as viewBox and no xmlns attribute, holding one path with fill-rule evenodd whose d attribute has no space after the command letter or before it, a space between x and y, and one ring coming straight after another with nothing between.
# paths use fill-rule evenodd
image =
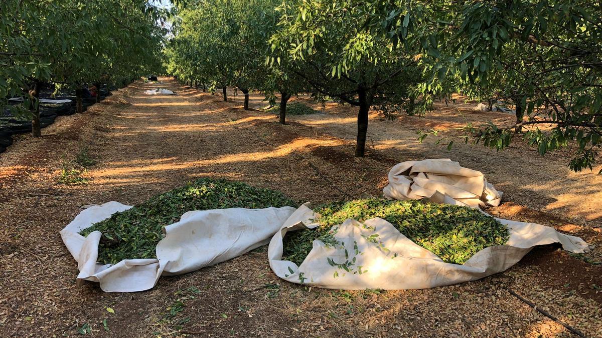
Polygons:
<instances>
[{"instance_id":1,"label":"cream tarp with loose leaf sprigs on its front, holding sunlit leaves","mask_svg":"<svg viewBox=\"0 0 602 338\"><path fill-rule=\"evenodd\" d=\"M509 230L506 245L480 250L464 265L445 263L415 244L382 218L360 223L347 220L334 226L334 246L314 241L300 266L282 260L282 239L292 230L314 229L318 224L307 205L301 206L270 241L268 259L278 277L292 283L326 289L426 289L477 280L504 271L536 245L560 243L573 253L589 251L582 239L551 227L496 218Z\"/></svg>"}]
</instances>

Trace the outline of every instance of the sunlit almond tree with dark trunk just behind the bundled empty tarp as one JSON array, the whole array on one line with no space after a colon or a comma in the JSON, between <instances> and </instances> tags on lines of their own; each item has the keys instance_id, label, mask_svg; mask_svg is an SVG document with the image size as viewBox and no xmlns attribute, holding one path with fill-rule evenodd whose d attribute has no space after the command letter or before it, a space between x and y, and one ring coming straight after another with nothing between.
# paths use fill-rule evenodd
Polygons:
<instances>
[{"instance_id":1,"label":"sunlit almond tree with dark trunk just behind the bundled empty tarp","mask_svg":"<svg viewBox=\"0 0 602 338\"><path fill-rule=\"evenodd\" d=\"M380 26L390 13L379 10L372 2L355 0L284 3L279 30L270 38L274 49L288 52L297 76L320 93L358 107L358 157L364 156L371 107L386 112L408 106L420 91L419 106L426 109L441 89L431 87L422 73L420 38L427 23L407 15L402 34L392 38ZM428 14L427 8L416 12ZM408 14L408 9L393 13Z\"/></svg>"}]
</instances>

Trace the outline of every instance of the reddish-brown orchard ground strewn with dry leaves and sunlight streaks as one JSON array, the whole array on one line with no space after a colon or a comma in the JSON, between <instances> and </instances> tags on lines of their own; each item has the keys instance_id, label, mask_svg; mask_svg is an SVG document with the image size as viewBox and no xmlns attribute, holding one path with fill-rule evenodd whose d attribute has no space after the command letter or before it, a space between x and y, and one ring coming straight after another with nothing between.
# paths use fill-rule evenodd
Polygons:
<instances>
[{"instance_id":1,"label":"reddish-brown orchard ground strewn with dry leaves and sunlight streaks","mask_svg":"<svg viewBox=\"0 0 602 338\"><path fill-rule=\"evenodd\" d=\"M143 91L158 85L135 82L84 114L58 118L43 138L18 137L0 154L1 337L81 336L82 327L98 337L571 336L509 290L587 336L602 336L600 177L570 173L566 154L541 158L520 142L496 153L416 141L418 130L447 129L442 133L453 137L466 120L507 115L471 112L465 103L438 104L426 118L388 121L373 113L370 149L357 159L349 106L329 103L283 126L276 115L244 111L240 95L223 102L161 80L178 94L147 96ZM252 108L265 106L261 99L252 94ZM96 159L82 174L87 185L57 183L82 149ZM141 203L196 177L242 180L312 203L377 196L391 166L423 158L483 171L509 201L492 214L554 226L597 247L583 257L538 248L506 272L456 286L353 292L281 281L259 248L161 278L146 292L104 293L96 283L76 286L75 260L58 234L82 206Z\"/></svg>"}]
</instances>

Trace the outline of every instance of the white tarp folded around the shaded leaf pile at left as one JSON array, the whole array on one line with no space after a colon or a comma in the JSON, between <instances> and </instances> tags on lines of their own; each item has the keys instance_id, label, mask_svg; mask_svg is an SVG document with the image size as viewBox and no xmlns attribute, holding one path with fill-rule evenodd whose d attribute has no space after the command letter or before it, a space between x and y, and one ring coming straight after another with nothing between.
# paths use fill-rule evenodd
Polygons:
<instances>
[{"instance_id":1,"label":"white tarp folded around the shaded leaf pile at left","mask_svg":"<svg viewBox=\"0 0 602 338\"><path fill-rule=\"evenodd\" d=\"M166 236L157 244L157 259L126 259L116 265L97 263L101 232L87 237L78 232L129 208L115 201L91 206L61 230L64 244L78 262L78 282L99 282L106 292L151 289L161 275L184 274L267 244L295 210L268 207L190 211L178 223L164 227Z\"/></svg>"}]
</instances>

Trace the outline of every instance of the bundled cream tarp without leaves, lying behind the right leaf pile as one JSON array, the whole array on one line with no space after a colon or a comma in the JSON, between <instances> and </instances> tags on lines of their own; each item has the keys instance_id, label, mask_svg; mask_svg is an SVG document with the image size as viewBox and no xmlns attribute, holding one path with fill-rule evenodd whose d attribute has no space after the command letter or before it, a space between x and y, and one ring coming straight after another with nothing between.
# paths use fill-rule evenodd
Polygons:
<instances>
[{"instance_id":1,"label":"bundled cream tarp without leaves, lying behind the right leaf pile","mask_svg":"<svg viewBox=\"0 0 602 338\"><path fill-rule=\"evenodd\" d=\"M394 165L389 171L385 197L470 207L497 206L502 192L495 190L480 171L461 167L450 159L424 159Z\"/></svg>"}]
</instances>

